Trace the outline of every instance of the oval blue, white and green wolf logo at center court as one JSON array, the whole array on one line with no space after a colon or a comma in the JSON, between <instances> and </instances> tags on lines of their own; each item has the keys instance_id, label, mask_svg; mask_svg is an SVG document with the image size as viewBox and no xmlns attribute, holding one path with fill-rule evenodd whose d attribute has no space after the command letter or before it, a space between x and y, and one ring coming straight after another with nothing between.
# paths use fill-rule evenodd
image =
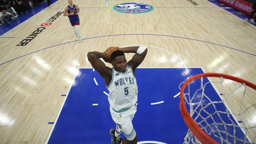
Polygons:
<instances>
[{"instance_id":1,"label":"oval blue, white and green wolf logo at center court","mask_svg":"<svg viewBox=\"0 0 256 144\"><path fill-rule=\"evenodd\" d=\"M154 10L152 5L146 3L119 3L114 5L113 10L120 13L148 13Z\"/></svg>"}]
</instances>

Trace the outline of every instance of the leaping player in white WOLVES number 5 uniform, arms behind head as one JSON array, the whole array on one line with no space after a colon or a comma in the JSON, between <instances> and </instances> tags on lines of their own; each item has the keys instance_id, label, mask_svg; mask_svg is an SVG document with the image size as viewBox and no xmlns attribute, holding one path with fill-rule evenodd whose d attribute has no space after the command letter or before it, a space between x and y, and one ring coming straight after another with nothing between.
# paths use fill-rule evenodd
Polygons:
<instances>
[{"instance_id":1,"label":"leaping player in white WOLVES number 5 uniform, arms behind head","mask_svg":"<svg viewBox=\"0 0 256 144\"><path fill-rule=\"evenodd\" d=\"M116 129L110 129L112 144L137 144L137 135L133 128L132 120L136 113L138 87L135 77L135 69L141 64L148 52L145 46L119 48L114 51L110 59L112 68L107 67L104 52L89 52L88 60L92 67L103 77L108 88L108 102L110 114L116 123ZM135 53L127 62L124 53ZM123 139L120 134L125 135Z\"/></svg>"}]
</instances>

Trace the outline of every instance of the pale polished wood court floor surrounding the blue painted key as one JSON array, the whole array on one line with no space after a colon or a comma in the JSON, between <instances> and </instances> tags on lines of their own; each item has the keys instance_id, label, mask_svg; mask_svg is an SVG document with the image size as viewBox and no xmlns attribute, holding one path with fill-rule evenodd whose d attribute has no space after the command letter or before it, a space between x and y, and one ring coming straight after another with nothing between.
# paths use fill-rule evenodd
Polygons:
<instances>
[{"instance_id":1,"label":"pale polished wood court floor surrounding the blue painted key","mask_svg":"<svg viewBox=\"0 0 256 144\"><path fill-rule=\"evenodd\" d=\"M107 4L102 10L103 0L73 2L80 7L82 42L67 17L55 16L67 0L58 0L1 36L1 144L46 142L53 126L48 122L55 121L64 101L60 96L69 91L78 68L91 67L89 51L146 45L148 55L140 67L202 67L256 83L256 27L206 0L197 0L199 5L141 0L155 10L136 15L118 13ZM110 1L112 6L123 2ZM32 33L38 34L24 40ZM28 43L17 46L21 41ZM255 97L252 92L254 103ZM255 125L255 118L251 123Z\"/></svg>"}]
</instances>

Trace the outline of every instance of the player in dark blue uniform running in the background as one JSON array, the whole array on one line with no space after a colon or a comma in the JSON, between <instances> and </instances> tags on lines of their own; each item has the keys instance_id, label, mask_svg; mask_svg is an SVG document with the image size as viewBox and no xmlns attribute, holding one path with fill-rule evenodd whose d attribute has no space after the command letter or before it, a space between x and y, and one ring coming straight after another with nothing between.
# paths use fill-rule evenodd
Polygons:
<instances>
[{"instance_id":1,"label":"player in dark blue uniform running in the background","mask_svg":"<svg viewBox=\"0 0 256 144\"><path fill-rule=\"evenodd\" d=\"M73 5L73 1L69 0L69 5L65 8L63 15L69 17L69 21L71 23L71 26L73 27L75 31L75 36L78 36L79 41L82 41L80 36L80 20L79 20L79 7L77 5Z\"/></svg>"}]
</instances>

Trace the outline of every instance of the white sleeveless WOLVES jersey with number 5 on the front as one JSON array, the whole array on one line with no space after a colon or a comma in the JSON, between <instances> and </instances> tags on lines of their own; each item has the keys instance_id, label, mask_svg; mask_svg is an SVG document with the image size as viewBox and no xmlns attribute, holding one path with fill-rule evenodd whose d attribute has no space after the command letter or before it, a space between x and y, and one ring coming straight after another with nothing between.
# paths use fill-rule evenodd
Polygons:
<instances>
[{"instance_id":1,"label":"white sleeveless WOLVES jersey with number 5 on the front","mask_svg":"<svg viewBox=\"0 0 256 144\"><path fill-rule=\"evenodd\" d=\"M117 72L112 67L112 80L107 86L108 102L116 112L129 110L138 100L138 86L133 70L129 65L125 72Z\"/></svg>"}]
</instances>

